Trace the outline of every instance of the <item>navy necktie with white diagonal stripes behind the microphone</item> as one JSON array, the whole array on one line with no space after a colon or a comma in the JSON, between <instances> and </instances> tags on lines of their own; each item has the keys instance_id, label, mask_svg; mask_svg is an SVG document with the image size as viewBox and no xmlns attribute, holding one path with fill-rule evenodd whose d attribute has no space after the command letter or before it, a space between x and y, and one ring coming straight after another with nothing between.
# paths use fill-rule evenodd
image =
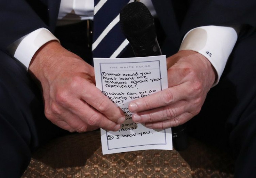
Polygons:
<instances>
[{"instance_id":1,"label":"navy necktie with white diagonal stripes behind the microphone","mask_svg":"<svg viewBox=\"0 0 256 178\"><path fill-rule=\"evenodd\" d=\"M119 25L120 10L128 2L129 0L94 0L94 57L118 57L129 44Z\"/></svg>"}]
</instances>

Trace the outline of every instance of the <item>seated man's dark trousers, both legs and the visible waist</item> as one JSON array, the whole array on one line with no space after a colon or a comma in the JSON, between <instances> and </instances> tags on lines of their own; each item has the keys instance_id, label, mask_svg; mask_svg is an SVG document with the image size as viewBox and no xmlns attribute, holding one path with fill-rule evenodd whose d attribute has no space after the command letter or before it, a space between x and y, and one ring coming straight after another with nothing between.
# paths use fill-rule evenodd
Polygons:
<instances>
[{"instance_id":1,"label":"seated man's dark trousers, both legs and the visible waist","mask_svg":"<svg viewBox=\"0 0 256 178\"><path fill-rule=\"evenodd\" d=\"M88 41L73 40L86 38L86 30L63 32L56 31L62 45L90 63ZM221 81L208 93L200 114L190 121L198 138L217 140L220 146L228 143L237 156L235 177L254 177L256 168L255 44L254 33L235 46ZM40 90L22 64L2 51L0 61L0 177L17 178L34 149L66 132L45 118Z\"/></svg>"}]
</instances>

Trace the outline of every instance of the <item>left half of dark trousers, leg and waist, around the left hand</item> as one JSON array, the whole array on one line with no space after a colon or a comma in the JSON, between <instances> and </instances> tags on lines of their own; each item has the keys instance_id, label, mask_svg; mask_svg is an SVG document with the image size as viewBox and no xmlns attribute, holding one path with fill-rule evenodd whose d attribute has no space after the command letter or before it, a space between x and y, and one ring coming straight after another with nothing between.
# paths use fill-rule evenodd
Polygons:
<instances>
[{"instance_id":1,"label":"left half of dark trousers, leg and waist, around the left hand","mask_svg":"<svg viewBox=\"0 0 256 178\"><path fill-rule=\"evenodd\" d=\"M62 46L91 63L87 34L87 23L80 23L58 27L55 35ZM25 67L3 51L0 61L0 178L18 178L31 152L69 132L47 120L41 91Z\"/></svg>"}]
</instances>

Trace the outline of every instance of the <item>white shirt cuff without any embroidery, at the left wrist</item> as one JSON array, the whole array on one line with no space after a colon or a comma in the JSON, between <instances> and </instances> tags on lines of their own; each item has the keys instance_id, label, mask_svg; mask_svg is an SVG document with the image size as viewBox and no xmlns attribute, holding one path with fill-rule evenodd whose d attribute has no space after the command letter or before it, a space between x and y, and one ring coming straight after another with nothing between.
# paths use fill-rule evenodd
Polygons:
<instances>
[{"instance_id":1,"label":"white shirt cuff without any embroidery, at the left wrist","mask_svg":"<svg viewBox=\"0 0 256 178\"><path fill-rule=\"evenodd\" d=\"M45 28L37 29L17 40L19 44L15 44L17 42L13 43L14 46L17 45L14 57L28 69L35 52L37 52L43 44L51 40L57 40L59 42L49 30Z\"/></svg>"}]
</instances>

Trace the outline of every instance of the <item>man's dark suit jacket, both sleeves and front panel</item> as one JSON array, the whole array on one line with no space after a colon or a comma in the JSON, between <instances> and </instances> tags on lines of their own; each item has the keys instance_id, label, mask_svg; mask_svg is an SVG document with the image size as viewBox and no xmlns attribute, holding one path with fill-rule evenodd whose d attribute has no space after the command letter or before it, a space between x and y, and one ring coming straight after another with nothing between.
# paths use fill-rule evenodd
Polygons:
<instances>
[{"instance_id":1,"label":"man's dark suit jacket, both sleeves and front panel","mask_svg":"<svg viewBox=\"0 0 256 178\"><path fill-rule=\"evenodd\" d=\"M204 25L246 24L255 32L255 0L152 0L166 33L163 54L177 52L184 34ZM24 35L45 27L54 32L60 0L8 0L0 2L0 50Z\"/></svg>"}]
</instances>

